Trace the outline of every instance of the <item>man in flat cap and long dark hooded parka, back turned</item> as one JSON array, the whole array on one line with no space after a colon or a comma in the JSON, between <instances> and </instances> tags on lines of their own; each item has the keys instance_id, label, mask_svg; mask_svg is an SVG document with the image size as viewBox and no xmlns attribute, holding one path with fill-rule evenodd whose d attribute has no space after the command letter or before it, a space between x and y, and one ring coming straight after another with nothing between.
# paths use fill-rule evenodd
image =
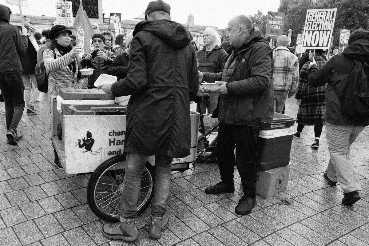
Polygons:
<instances>
[{"instance_id":1,"label":"man in flat cap and long dark hooded parka, back turned","mask_svg":"<svg viewBox=\"0 0 369 246\"><path fill-rule=\"evenodd\" d=\"M171 163L173 157L190 154L190 98L199 90L190 32L170 20L170 6L161 0L149 3L145 18L133 32L127 77L98 87L115 97L131 95L127 105L127 162L120 222L103 227L107 238L125 241L138 238L137 202L148 156L155 156L149 237L160 238L168 227Z\"/></svg>"}]
</instances>

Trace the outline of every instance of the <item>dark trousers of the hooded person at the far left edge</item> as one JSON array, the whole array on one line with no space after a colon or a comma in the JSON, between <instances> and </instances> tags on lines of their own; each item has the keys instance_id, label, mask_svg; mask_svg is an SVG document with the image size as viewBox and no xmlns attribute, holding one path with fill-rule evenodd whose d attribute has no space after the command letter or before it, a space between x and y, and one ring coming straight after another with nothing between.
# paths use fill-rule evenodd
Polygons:
<instances>
[{"instance_id":1,"label":"dark trousers of the hooded person at the far left edge","mask_svg":"<svg viewBox=\"0 0 369 246\"><path fill-rule=\"evenodd\" d=\"M6 128L17 132L24 110L24 84L21 73L0 74L0 89L4 96Z\"/></svg>"}]
</instances>

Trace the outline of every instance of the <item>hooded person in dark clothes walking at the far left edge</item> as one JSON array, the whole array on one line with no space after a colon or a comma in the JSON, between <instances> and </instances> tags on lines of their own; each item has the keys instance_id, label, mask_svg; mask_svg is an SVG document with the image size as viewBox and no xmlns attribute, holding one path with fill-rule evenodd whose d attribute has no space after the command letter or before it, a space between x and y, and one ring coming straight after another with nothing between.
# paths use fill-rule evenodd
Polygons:
<instances>
[{"instance_id":1,"label":"hooded person in dark clothes walking at the far left edge","mask_svg":"<svg viewBox=\"0 0 369 246\"><path fill-rule=\"evenodd\" d=\"M27 53L28 37L21 36L18 28L9 24L10 14L10 8L0 4L0 89L4 96L8 144L18 145L23 136L17 135L17 127L25 104L19 56ZM24 27L22 33L27 33Z\"/></svg>"}]
</instances>

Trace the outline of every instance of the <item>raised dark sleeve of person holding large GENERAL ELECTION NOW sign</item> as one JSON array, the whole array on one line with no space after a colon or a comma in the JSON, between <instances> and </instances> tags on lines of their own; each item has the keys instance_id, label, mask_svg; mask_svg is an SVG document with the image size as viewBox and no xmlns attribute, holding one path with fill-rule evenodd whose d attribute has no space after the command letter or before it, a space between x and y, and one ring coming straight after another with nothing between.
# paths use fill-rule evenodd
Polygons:
<instances>
[{"instance_id":1,"label":"raised dark sleeve of person holding large GENERAL ELECTION NOW sign","mask_svg":"<svg viewBox=\"0 0 369 246\"><path fill-rule=\"evenodd\" d=\"M323 67L319 70L316 65L312 65L308 70L307 74L309 77L309 83L313 87L323 86L330 80L331 71L334 67L335 57L333 56Z\"/></svg>"}]
</instances>

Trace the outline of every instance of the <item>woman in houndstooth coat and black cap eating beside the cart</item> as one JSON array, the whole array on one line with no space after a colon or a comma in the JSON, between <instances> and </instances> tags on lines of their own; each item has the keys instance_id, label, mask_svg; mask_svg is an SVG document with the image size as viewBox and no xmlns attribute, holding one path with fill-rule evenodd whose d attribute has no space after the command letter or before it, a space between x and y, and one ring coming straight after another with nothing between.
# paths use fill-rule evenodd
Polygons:
<instances>
[{"instance_id":1,"label":"woman in houndstooth coat and black cap eating beside the cart","mask_svg":"<svg viewBox=\"0 0 369 246\"><path fill-rule=\"evenodd\" d=\"M59 95L60 88L82 88L79 79L79 64L76 55L81 51L79 46L70 43L70 31L63 25L51 28L51 47L43 53L46 72L49 73L48 96ZM51 104L49 103L51 108ZM54 148L54 166L63 170L58 154Z\"/></svg>"}]
</instances>

